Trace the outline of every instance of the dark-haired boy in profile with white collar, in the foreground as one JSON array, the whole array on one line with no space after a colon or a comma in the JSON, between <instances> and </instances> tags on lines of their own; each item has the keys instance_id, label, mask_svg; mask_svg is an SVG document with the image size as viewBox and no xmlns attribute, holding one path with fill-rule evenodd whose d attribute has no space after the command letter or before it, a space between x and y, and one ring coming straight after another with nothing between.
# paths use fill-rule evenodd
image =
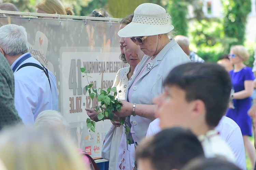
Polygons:
<instances>
[{"instance_id":1,"label":"dark-haired boy in profile with white collar, in the foreground","mask_svg":"<svg viewBox=\"0 0 256 170\"><path fill-rule=\"evenodd\" d=\"M175 67L163 86L163 94L154 99L160 128L188 128L201 141L205 157L236 163L233 152L214 129L229 103L232 85L228 72L213 63L186 63Z\"/></svg>"}]
</instances>

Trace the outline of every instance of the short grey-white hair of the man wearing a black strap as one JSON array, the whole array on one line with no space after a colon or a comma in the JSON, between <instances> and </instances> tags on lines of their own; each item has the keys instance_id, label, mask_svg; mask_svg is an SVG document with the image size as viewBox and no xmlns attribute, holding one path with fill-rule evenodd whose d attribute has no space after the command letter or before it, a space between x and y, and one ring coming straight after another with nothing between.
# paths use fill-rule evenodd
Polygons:
<instances>
[{"instance_id":1,"label":"short grey-white hair of the man wearing a black strap","mask_svg":"<svg viewBox=\"0 0 256 170\"><path fill-rule=\"evenodd\" d=\"M0 47L10 56L28 51L27 32L23 26L9 24L0 27Z\"/></svg>"}]
</instances>

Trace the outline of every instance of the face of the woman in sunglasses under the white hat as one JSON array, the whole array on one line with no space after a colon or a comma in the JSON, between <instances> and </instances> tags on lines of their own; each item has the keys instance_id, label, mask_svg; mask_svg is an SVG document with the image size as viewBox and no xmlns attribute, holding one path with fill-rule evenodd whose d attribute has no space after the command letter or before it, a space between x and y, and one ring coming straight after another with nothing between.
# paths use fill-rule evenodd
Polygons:
<instances>
[{"instance_id":1,"label":"face of the woman in sunglasses under the white hat","mask_svg":"<svg viewBox=\"0 0 256 170\"><path fill-rule=\"evenodd\" d=\"M142 44L139 43L139 41L136 41L136 45L138 45L140 50L148 56L153 56L156 54L158 43L160 44L160 42L158 42L158 35L146 37Z\"/></svg>"}]
</instances>

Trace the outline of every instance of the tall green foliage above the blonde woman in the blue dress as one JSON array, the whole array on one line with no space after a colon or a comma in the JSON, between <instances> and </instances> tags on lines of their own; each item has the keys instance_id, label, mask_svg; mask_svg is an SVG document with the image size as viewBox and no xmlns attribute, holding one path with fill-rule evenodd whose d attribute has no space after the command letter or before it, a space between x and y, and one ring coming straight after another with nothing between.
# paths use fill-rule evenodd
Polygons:
<instances>
[{"instance_id":1,"label":"tall green foliage above the blonde woman in the blue dress","mask_svg":"<svg viewBox=\"0 0 256 170\"><path fill-rule=\"evenodd\" d=\"M222 0L224 8L224 32L226 37L234 37L231 45L244 43L247 15L251 12L251 0Z\"/></svg>"}]
</instances>

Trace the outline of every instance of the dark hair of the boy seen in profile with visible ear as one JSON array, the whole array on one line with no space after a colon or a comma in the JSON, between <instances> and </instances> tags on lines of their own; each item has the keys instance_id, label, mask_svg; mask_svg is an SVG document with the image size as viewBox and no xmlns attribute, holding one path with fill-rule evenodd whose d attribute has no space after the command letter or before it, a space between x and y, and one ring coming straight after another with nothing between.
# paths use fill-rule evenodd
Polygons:
<instances>
[{"instance_id":1,"label":"dark hair of the boy seen in profile with visible ear","mask_svg":"<svg viewBox=\"0 0 256 170\"><path fill-rule=\"evenodd\" d=\"M215 63L198 62L175 67L163 86L177 86L185 90L188 102L202 100L206 107L206 122L210 128L217 126L225 114L232 87L225 68Z\"/></svg>"}]
</instances>

